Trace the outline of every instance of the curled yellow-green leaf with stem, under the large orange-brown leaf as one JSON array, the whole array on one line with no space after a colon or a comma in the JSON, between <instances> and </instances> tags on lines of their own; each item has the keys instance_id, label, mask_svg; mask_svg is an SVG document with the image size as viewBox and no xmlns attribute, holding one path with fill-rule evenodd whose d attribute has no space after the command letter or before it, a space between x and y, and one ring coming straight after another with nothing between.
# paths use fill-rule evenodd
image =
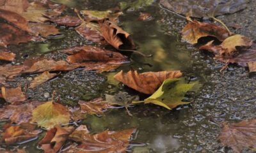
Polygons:
<instances>
[{"instance_id":1,"label":"curled yellow-green leaf with stem, under the large orange-brown leaf","mask_svg":"<svg viewBox=\"0 0 256 153\"><path fill-rule=\"evenodd\" d=\"M180 78L169 78L163 82L161 87L157 89L154 94L144 101L134 101L133 104L144 102L153 103L154 105L159 105L172 110L179 105L185 105L190 102L183 102L185 94L194 86L195 84L186 84Z\"/></svg>"}]
</instances>

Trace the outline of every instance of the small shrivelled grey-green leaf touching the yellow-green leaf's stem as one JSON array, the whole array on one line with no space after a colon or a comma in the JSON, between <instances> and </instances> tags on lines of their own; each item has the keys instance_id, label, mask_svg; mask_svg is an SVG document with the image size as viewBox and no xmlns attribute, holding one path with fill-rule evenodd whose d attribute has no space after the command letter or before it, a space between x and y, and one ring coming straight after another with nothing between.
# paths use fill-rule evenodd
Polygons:
<instances>
[{"instance_id":1,"label":"small shrivelled grey-green leaf touching the yellow-green leaf's stem","mask_svg":"<svg viewBox=\"0 0 256 153\"><path fill-rule=\"evenodd\" d=\"M140 100L139 96L130 96L126 92L118 92L114 96L106 94L106 101L110 105L124 106L129 115L131 115L131 113L129 112L128 107L132 105L132 101L139 101L139 100Z\"/></svg>"}]
</instances>

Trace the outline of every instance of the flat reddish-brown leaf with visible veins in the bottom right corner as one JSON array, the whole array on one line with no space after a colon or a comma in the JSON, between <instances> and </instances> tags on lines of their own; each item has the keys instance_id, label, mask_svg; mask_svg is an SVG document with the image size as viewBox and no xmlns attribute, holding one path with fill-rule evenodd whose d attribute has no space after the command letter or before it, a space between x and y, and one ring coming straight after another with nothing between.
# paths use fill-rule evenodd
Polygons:
<instances>
[{"instance_id":1,"label":"flat reddish-brown leaf with visible veins in the bottom right corner","mask_svg":"<svg viewBox=\"0 0 256 153\"><path fill-rule=\"evenodd\" d=\"M237 124L224 123L218 139L234 152L241 152L244 148L256 149L256 119L242 120Z\"/></svg>"}]
</instances>

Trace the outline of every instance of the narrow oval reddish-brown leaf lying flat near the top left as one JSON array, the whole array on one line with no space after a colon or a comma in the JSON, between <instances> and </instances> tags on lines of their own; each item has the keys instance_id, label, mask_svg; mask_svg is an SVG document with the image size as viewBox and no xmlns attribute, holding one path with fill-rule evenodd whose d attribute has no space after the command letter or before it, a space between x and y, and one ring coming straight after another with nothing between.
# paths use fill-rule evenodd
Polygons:
<instances>
[{"instance_id":1,"label":"narrow oval reddish-brown leaf lying flat near the top left","mask_svg":"<svg viewBox=\"0 0 256 153\"><path fill-rule=\"evenodd\" d=\"M58 25L65 25L68 27L76 27L77 25L82 24L82 21L78 17L71 16L51 18L51 21Z\"/></svg>"}]
</instances>

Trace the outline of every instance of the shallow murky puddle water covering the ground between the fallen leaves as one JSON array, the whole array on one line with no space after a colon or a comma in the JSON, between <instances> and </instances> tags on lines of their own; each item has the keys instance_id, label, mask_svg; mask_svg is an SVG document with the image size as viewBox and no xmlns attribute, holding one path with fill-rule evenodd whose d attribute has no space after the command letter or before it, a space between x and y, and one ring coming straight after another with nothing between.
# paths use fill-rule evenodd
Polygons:
<instances>
[{"instance_id":1,"label":"shallow murky puddle water covering the ground between the fallen leaves","mask_svg":"<svg viewBox=\"0 0 256 153\"><path fill-rule=\"evenodd\" d=\"M108 10L116 7L120 2L117 0L56 1L79 10ZM141 11L151 13L152 20L138 21ZM71 12L67 10L67 13ZM139 94L111 79L120 69L124 71L136 69L139 72L180 69L187 79L199 81L203 85L193 103L178 106L172 111L156 105L132 106L129 108L132 117L127 115L124 108L116 108L108 110L105 116L88 115L81 124L88 126L92 133L106 129L136 128L127 152L230 152L229 149L221 147L217 141L220 125L209 119L238 121L255 117L253 113L256 107L256 86L253 78L246 76L246 69L231 67L223 75L218 71L223 64L213 61L211 55L198 52L191 45L182 42L180 30L185 24L184 18L159 8L157 3L141 10L125 10L124 15L120 17L120 25L132 34L138 51L153 54L152 58L132 54L129 64L100 75L94 71L85 72L81 69L62 73L58 78L40 87L29 89L28 95L31 99L47 101L51 99L47 95L51 95L55 90L57 96L61 98L61 103L75 106L79 99L104 97L106 93L125 91L129 94ZM20 55L17 62L42 54L54 59L65 59L65 55L56 54L55 51L92 43L84 40L76 31L70 31L65 27L61 27L61 32L61 36L45 43L11 47ZM19 81L24 85L31 77L33 75L19 77ZM249 81L240 84L239 80L243 77ZM15 84L13 82L13 85ZM244 91L244 89L248 90ZM140 96L143 98L145 95ZM237 101L239 103L236 103ZM27 147L28 152L42 152L36 149L37 142L25 143L20 147Z\"/></svg>"}]
</instances>

